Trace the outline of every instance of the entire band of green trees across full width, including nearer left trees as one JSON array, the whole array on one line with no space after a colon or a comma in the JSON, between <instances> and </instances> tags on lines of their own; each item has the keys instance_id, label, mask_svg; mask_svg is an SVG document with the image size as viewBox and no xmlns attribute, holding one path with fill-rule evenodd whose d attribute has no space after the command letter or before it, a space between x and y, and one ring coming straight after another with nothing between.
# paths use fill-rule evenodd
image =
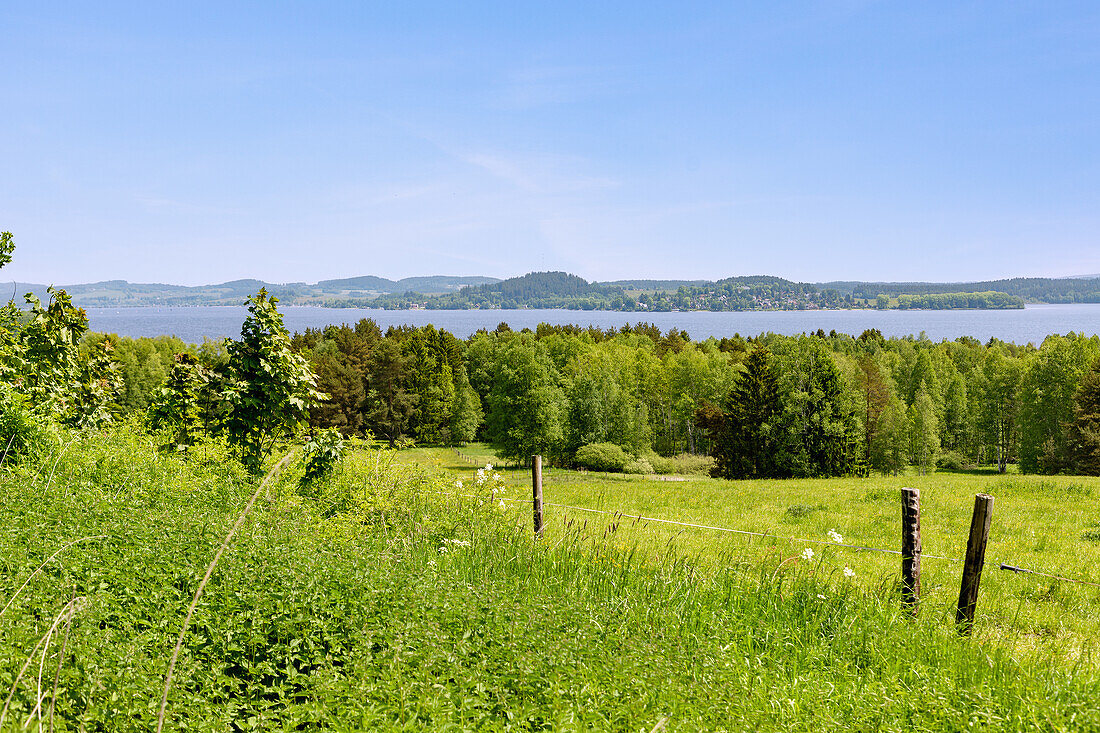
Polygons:
<instances>
[{"instance_id":1,"label":"entire band of green trees across full width, including nearer left trees","mask_svg":"<svg viewBox=\"0 0 1100 733\"><path fill-rule=\"evenodd\" d=\"M13 249L0 236L0 266ZM509 458L565 466L710 455L726 478L1010 463L1100 472L1097 337L693 341L648 324L501 324L459 339L431 326L383 332L369 319L292 337L261 291L240 339L191 346L90 333L64 291L50 296L0 309L6 456L51 425L130 418L180 452L224 439L253 470L306 425L395 447L485 440Z\"/></svg>"}]
</instances>

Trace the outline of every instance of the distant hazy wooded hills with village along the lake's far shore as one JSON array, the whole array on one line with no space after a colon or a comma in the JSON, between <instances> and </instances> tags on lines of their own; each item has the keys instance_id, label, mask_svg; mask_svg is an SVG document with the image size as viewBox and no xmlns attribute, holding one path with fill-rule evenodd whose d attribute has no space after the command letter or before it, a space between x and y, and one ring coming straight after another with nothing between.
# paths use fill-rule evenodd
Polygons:
<instances>
[{"instance_id":1,"label":"distant hazy wooded hills with village along the lake's far shore","mask_svg":"<svg viewBox=\"0 0 1100 733\"><path fill-rule=\"evenodd\" d=\"M46 286L16 283L20 293L46 297ZM815 309L1012 309L1027 303L1100 303L1100 278L1018 277L978 283L798 283L769 275L710 281L588 282L564 272L509 280L485 276L373 275L308 283L238 280L219 285L163 285L107 281L66 285L81 307L240 305L266 288L284 305L386 309L517 309L676 311Z\"/></svg>"}]
</instances>

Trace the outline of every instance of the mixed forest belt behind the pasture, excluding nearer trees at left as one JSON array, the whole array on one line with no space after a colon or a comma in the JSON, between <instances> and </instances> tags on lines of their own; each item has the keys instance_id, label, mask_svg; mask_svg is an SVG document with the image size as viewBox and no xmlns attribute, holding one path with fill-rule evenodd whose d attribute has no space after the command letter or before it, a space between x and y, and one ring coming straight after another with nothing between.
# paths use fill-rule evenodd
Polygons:
<instances>
[{"instance_id":1,"label":"mixed forest belt behind the pasture, excluding nearer trees at left","mask_svg":"<svg viewBox=\"0 0 1100 733\"><path fill-rule=\"evenodd\" d=\"M766 333L695 342L622 329L502 324L460 340L370 320L297 335L330 400L317 426L391 441L483 439L572 462L587 445L635 457L711 453L735 477L897 473L1019 463L1089 470L1100 339L1040 347L971 338Z\"/></svg>"}]
</instances>

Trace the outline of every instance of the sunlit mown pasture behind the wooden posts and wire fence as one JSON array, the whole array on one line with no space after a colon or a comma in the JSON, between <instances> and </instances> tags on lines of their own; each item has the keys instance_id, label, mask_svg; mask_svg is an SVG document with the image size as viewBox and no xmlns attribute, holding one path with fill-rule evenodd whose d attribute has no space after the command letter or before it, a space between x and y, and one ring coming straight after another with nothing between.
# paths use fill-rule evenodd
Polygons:
<instances>
[{"instance_id":1,"label":"sunlit mown pasture behind the wooden posts and wire fence","mask_svg":"<svg viewBox=\"0 0 1100 733\"><path fill-rule=\"evenodd\" d=\"M492 461L491 449L474 445L465 456ZM447 470L468 483L476 470L452 450L416 449L404 459ZM503 471L509 496L528 499L526 469ZM583 473L544 472L548 504L623 512L662 519L728 527L773 537L637 522L630 517L580 512L548 505L548 539L557 541L570 523L587 522L588 541L637 549L651 559L674 553L715 569L749 562L807 565L838 576L855 571L865 589L893 592L900 575L897 555L822 547L779 538L828 540L828 530L845 543L900 549L902 486L921 490L923 551L948 558L966 554L976 493L994 496L993 521L982 575L975 633L1012 647L1043 648L1076 659L1100 642L1100 587L999 570L1007 562L1049 575L1100 583L1100 478L1025 477L989 473L875 477L783 481L722 481L685 477L683 481ZM516 522L530 526L529 504L516 505ZM617 529L609 532L615 525ZM814 560L800 558L805 548ZM922 562L922 614L954 622L961 564L926 558Z\"/></svg>"}]
</instances>

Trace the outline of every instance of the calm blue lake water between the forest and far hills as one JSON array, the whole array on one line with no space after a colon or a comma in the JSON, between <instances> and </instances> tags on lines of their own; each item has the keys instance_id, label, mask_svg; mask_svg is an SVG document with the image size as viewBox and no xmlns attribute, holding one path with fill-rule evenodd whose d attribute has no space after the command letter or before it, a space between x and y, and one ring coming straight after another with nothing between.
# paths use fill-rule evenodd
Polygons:
<instances>
[{"instance_id":1,"label":"calm blue lake water between the forest and far hills","mask_svg":"<svg viewBox=\"0 0 1100 733\"><path fill-rule=\"evenodd\" d=\"M535 328L540 322L578 324L600 328L649 321L662 331L679 328L696 340L740 333L788 336L824 329L858 336L877 328L884 336L917 336L934 341L972 336L981 341L1036 346L1049 333L1100 333L1100 304L1030 305L1023 310L778 310L747 313L614 313L606 310L375 310L370 308L282 308L290 331L329 324L354 324L373 318L383 330L389 326L435 325L466 338L480 328L492 330L501 321L512 328ZM185 341L239 337L245 309L232 306L200 308L87 308L91 329L120 336L178 336Z\"/></svg>"}]
</instances>

